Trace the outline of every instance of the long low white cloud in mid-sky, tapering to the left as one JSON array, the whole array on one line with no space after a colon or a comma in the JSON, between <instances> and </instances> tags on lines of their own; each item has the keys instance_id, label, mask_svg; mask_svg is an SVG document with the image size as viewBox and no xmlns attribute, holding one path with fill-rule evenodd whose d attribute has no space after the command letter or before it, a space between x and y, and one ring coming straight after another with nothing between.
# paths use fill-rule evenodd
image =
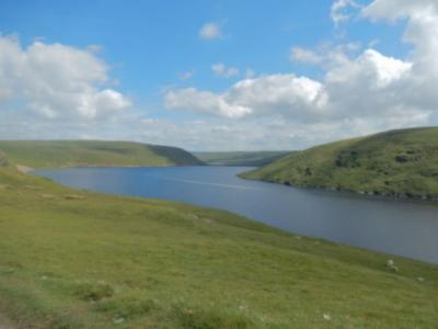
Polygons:
<instances>
[{"instance_id":1,"label":"long low white cloud in mid-sky, tapering to the left","mask_svg":"<svg viewBox=\"0 0 438 329\"><path fill-rule=\"evenodd\" d=\"M269 115L275 111L275 114L285 117L304 120L319 113L325 102L326 95L321 83L295 75L241 80L223 93L195 88L171 90L164 98L168 109L230 118Z\"/></svg>"}]
</instances>

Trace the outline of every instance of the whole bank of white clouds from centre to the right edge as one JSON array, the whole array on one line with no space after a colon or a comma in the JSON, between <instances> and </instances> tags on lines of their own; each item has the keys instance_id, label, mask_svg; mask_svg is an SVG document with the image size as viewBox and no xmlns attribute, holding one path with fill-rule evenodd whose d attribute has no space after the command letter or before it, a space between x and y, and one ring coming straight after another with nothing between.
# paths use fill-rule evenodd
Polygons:
<instances>
[{"instance_id":1,"label":"whole bank of white clouds from centre to the right edge","mask_svg":"<svg viewBox=\"0 0 438 329\"><path fill-rule=\"evenodd\" d=\"M334 2L336 10L346 5L357 4ZM222 92L180 89L164 95L165 104L172 110L240 122L279 118L296 128L355 123L362 127L361 132L372 132L431 124L438 117L438 3L376 0L362 9L361 15L370 20L406 20L404 41L414 46L412 53L395 58L374 48L360 50L355 43L315 49L295 47L291 59L320 65L325 71L323 78L266 75L243 79Z\"/></svg>"}]
</instances>

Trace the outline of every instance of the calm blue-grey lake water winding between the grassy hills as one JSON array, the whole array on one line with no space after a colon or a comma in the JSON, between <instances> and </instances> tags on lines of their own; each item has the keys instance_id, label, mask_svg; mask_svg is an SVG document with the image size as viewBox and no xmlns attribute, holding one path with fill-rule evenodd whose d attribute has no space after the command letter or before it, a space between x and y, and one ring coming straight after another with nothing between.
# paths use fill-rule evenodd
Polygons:
<instances>
[{"instance_id":1,"label":"calm blue-grey lake water winding between the grassy hills","mask_svg":"<svg viewBox=\"0 0 438 329\"><path fill-rule=\"evenodd\" d=\"M300 235L438 263L438 206L237 177L249 169L73 168L36 174L73 188L227 209Z\"/></svg>"}]
</instances>

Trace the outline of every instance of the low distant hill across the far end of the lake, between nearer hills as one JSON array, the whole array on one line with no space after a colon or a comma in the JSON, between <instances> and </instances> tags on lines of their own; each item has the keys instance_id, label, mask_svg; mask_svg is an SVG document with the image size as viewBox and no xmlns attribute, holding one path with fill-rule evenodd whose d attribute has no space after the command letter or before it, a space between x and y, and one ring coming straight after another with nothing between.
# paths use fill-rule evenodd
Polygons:
<instances>
[{"instance_id":1,"label":"low distant hill across the far end of the lake, between nearer hills","mask_svg":"<svg viewBox=\"0 0 438 329\"><path fill-rule=\"evenodd\" d=\"M265 166L289 154L289 151L194 152L198 159L208 164L247 167Z\"/></svg>"}]
</instances>

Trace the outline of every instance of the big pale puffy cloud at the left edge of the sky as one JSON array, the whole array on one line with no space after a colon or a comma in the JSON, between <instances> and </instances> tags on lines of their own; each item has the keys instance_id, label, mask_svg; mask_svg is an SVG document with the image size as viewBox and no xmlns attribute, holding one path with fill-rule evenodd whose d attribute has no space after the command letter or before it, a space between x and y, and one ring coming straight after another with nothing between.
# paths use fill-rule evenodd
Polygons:
<instances>
[{"instance_id":1,"label":"big pale puffy cloud at the left edge of the sky","mask_svg":"<svg viewBox=\"0 0 438 329\"><path fill-rule=\"evenodd\" d=\"M35 42L24 48L0 36L0 105L24 102L47 118L94 120L125 111L130 102L110 83L108 68L91 50Z\"/></svg>"}]
</instances>

